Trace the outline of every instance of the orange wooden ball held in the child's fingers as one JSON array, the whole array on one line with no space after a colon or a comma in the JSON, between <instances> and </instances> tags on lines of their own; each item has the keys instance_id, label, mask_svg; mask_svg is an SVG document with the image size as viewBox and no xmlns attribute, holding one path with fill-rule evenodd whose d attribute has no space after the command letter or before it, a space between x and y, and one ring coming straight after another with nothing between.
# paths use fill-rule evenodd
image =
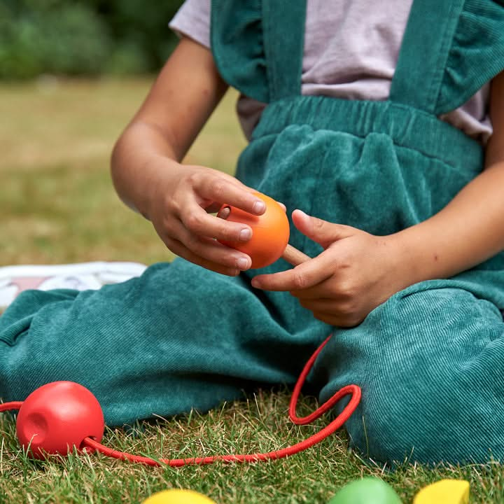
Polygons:
<instances>
[{"instance_id":1,"label":"orange wooden ball held in the child's fingers","mask_svg":"<svg viewBox=\"0 0 504 504\"><path fill-rule=\"evenodd\" d=\"M248 241L221 241L222 244L236 248L250 255L253 268L269 266L281 257L288 244L290 235L288 218L283 208L269 196L256 193L266 204L266 211L260 216L223 205L230 209L227 221L239 222L252 228L252 237Z\"/></svg>"}]
</instances>

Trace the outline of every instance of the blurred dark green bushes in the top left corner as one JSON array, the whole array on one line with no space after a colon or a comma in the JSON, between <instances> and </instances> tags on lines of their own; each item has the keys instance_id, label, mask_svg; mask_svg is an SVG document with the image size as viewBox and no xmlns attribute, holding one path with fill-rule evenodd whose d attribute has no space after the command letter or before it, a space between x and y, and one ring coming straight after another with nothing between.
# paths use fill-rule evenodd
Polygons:
<instances>
[{"instance_id":1,"label":"blurred dark green bushes in the top left corner","mask_svg":"<svg viewBox=\"0 0 504 504\"><path fill-rule=\"evenodd\" d=\"M0 79L132 74L160 68L182 0L1 0Z\"/></svg>"}]
</instances>

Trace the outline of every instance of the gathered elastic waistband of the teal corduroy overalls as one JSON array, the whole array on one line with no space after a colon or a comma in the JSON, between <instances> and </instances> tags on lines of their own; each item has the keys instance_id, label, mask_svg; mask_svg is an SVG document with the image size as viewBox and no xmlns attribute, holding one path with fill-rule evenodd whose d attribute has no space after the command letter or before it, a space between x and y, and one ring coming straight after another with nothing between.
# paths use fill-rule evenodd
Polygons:
<instances>
[{"instance_id":1,"label":"gathered elastic waistband of the teal corduroy overalls","mask_svg":"<svg viewBox=\"0 0 504 504\"><path fill-rule=\"evenodd\" d=\"M449 165L480 170L482 146L461 130L437 117L395 102L345 100L300 96L269 104L262 112L252 140L278 134L288 125L309 125L314 130L332 130L367 137L386 134L393 143L437 158Z\"/></svg>"}]
</instances>

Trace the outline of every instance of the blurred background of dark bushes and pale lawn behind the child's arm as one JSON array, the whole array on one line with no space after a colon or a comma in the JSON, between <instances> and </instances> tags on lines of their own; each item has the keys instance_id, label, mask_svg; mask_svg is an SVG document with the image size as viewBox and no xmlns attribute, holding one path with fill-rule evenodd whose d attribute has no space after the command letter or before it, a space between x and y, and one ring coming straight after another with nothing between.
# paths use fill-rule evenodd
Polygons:
<instances>
[{"instance_id":1,"label":"blurred background of dark bushes and pale lawn behind the child's arm","mask_svg":"<svg viewBox=\"0 0 504 504\"><path fill-rule=\"evenodd\" d=\"M113 145L177 43L182 0L0 0L0 266L174 255L120 202ZM185 162L232 173L230 90Z\"/></svg>"}]
</instances>

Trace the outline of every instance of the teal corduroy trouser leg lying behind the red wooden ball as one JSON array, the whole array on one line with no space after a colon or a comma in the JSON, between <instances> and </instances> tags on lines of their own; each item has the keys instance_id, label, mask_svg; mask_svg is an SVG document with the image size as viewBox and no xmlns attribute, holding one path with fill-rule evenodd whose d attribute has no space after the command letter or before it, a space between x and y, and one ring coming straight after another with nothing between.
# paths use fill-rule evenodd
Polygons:
<instances>
[{"instance_id":1,"label":"teal corduroy trouser leg lying behind the red wooden ball","mask_svg":"<svg viewBox=\"0 0 504 504\"><path fill-rule=\"evenodd\" d=\"M27 290L0 316L0 397L77 381L118 425L292 384L325 331L305 316L294 333L280 306L185 260L100 290Z\"/></svg>"}]
</instances>

